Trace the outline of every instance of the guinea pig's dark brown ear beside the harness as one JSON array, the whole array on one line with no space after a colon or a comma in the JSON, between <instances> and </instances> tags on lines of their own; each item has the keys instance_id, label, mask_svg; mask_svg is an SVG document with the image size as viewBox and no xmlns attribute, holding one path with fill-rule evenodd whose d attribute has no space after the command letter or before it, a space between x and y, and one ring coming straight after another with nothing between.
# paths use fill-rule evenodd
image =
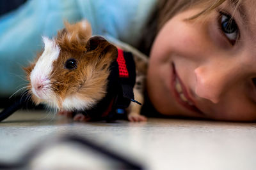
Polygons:
<instances>
[{"instance_id":1,"label":"guinea pig's dark brown ear beside the harness","mask_svg":"<svg viewBox=\"0 0 256 170\"><path fill-rule=\"evenodd\" d=\"M118 50L116 46L109 43L106 39L100 37L100 36L93 36L88 40L88 43L86 45L86 50L89 51L97 51L98 53L101 53L100 57L109 57L113 60L115 60L118 57Z\"/></svg>"}]
</instances>

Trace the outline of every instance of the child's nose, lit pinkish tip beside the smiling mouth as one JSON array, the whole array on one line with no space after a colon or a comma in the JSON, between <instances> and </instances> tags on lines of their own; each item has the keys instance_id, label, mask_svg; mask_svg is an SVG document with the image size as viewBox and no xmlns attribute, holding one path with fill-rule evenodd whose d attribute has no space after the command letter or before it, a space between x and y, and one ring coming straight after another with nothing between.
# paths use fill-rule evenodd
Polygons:
<instances>
[{"instance_id":1,"label":"child's nose, lit pinkish tip beside the smiling mouth","mask_svg":"<svg viewBox=\"0 0 256 170\"><path fill-rule=\"evenodd\" d=\"M208 99L212 103L219 103L221 97L227 92L232 76L230 69L223 67L197 67L195 69L196 86L195 94Z\"/></svg>"}]
</instances>

